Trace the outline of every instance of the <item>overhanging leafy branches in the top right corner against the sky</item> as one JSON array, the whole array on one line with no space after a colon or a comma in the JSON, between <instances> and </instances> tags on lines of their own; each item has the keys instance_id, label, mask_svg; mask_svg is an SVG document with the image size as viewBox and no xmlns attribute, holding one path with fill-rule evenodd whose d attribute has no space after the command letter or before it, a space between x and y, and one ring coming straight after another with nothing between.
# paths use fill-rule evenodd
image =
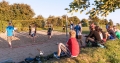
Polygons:
<instances>
[{"instance_id":1,"label":"overhanging leafy branches in the top right corner against the sky","mask_svg":"<svg viewBox=\"0 0 120 63\"><path fill-rule=\"evenodd\" d=\"M91 17L96 17L97 15L107 16L111 12L115 12L116 9L120 9L120 0L74 0L70 3L70 12L80 10L80 13L86 9L92 7L92 9L86 14Z\"/></svg>"}]
</instances>

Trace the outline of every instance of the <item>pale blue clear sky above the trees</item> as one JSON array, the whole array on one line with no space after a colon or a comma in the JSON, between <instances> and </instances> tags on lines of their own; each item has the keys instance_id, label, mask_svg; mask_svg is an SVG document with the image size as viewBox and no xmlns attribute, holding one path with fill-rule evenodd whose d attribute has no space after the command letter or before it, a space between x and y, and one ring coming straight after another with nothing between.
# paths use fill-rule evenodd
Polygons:
<instances>
[{"instance_id":1,"label":"pale blue clear sky above the trees","mask_svg":"<svg viewBox=\"0 0 120 63\"><path fill-rule=\"evenodd\" d=\"M1 2L2 0L0 0ZM42 15L44 18L47 18L50 15L62 16L67 14L68 16L77 16L80 20L83 18L88 18L88 15L85 15L85 12L80 14L80 12L74 13L71 15L67 13L65 8L69 8L69 4L73 0L5 0L9 4L13 3L24 3L31 6L35 12L35 16ZM92 0L91 0L92 1ZM101 17L105 19L112 19L114 23L120 23L120 10L116 10L113 13L110 13L107 17Z\"/></svg>"}]
</instances>

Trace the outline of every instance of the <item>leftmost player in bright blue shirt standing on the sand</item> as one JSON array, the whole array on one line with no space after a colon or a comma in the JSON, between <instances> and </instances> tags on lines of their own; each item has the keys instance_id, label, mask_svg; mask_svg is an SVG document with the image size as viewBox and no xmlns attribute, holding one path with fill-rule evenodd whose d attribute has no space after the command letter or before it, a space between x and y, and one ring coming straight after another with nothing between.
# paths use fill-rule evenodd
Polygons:
<instances>
[{"instance_id":1,"label":"leftmost player in bright blue shirt standing on the sand","mask_svg":"<svg viewBox=\"0 0 120 63\"><path fill-rule=\"evenodd\" d=\"M14 35L14 27L12 26L12 23L9 22L8 26L6 27L6 35L7 35L7 41L9 44L9 47L12 48L12 36Z\"/></svg>"}]
</instances>

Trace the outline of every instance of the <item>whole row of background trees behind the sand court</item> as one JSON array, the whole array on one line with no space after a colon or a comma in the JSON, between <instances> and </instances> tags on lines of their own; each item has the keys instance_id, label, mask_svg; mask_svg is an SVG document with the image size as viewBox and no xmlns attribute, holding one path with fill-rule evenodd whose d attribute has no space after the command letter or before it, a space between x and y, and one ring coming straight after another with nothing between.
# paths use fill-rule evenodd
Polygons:
<instances>
[{"instance_id":1,"label":"whole row of background trees behind the sand court","mask_svg":"<svg viewBox=\"0 0 120 63\"><path fill-rule=\"evenodd\" d=\"M0 2L0 27L5 28L7 26L7 21L12 21L16 27L28 27L30 23L36 23L38 27L44 27L46 24L53 24L53 26L63 26L66 23L66 17L68 25L70 21L74 24L82 22L83 26L88 26L90 22L95 22L96 24L105 25L109 23L113 25L112 20L100 19L99 17L89 17L89 19L79 19L77 16L68 17L66 15L62 16L49 16L44 18L42 15L34 17L35 13L33 9L28 4L14 3L9 4L7 1L3 0ZM118 23L119 25L119 23Z\"/></svg>"}]
</instances>

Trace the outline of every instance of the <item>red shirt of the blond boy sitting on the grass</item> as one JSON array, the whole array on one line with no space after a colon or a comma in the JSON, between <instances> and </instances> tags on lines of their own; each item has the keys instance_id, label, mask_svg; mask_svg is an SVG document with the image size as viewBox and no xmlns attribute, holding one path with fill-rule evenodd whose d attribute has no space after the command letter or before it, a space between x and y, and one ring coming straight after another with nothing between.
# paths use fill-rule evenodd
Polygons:
<instances>
[{"instance_id":1,"label":"red shirt of the blond boy sitting on the grass","mask_svg":"<svg viewBox=\"0 0 120 63\"><path fill-rule=\"evenodd\" d=\"M71 52L72 56L77 56L79 54L79 44L76 40L76 38L70 38L67 42L68 49Z\"/></svg>"}]
</instances>

